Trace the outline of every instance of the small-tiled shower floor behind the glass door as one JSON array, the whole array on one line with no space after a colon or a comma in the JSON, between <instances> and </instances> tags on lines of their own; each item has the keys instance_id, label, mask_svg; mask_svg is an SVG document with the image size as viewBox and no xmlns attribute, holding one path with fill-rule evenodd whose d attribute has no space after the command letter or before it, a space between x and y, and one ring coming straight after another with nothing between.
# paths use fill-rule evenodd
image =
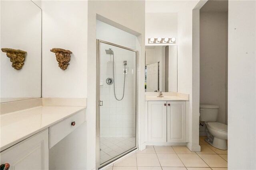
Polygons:
<instances>
[{"instance_id":1,"label":"small-tiled shower floor behind the glass door","mask_svg":"<svg viewBox=\"0 0 256 170\"><path fill-rule=\"evenodd\" d=\"M100 164L136 146L135 137L100 138Z\"/></svg>"}]
</instances>

